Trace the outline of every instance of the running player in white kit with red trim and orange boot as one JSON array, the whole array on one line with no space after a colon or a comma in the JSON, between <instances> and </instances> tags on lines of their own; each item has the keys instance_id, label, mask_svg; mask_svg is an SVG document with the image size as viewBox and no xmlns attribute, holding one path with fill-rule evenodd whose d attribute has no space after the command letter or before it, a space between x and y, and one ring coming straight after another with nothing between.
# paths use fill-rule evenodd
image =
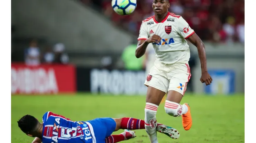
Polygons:
<instances>
[{"instance_id":1,"label":"running player in white kit with red trim and orange boot","mask_svg":"<svg viewBox=\"0 0 256 143\"><path fill-rule=\"evenodd\" d=\"M168 0L153 0L152 8L155 15L143 20L141 24L135 56L143 56L148 44L152 43L156 61L145 81L148 87L145 128L150 142L158 143L156 111L166 92L166 113L173 117L182 116L185 130L192 126L189 105L180 104L191 77L188 65L190 50L186 39L198 49L202 70L201 82L210 85L212 78L207 71L204 44L189 24L180 15L168 12Z\"/></svg>"}]
</instances>

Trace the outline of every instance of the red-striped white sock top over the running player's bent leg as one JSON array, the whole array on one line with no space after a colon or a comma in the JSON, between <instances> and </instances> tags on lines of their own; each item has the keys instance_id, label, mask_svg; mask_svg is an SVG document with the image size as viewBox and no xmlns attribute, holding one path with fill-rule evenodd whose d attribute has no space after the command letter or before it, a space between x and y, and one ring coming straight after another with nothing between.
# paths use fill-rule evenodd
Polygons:
<instances>
[{"instance_id":1,"label":"red-striped white sock top over the running player's bent leg","mask_svg":"<svg viewBox=\"0 0 256 143\"><path fill-rule=\"evenodd\" d=\"M170 115L170 116L173 116L173 117L177 117L177 116L180 116L181 113L179 113L179 105L178 103L175 103L175 102L171 102L171 101L167 101L165 102L165 106L164 106L164 109L165 109L165 112Z\"/></svg>"}]
</instances>

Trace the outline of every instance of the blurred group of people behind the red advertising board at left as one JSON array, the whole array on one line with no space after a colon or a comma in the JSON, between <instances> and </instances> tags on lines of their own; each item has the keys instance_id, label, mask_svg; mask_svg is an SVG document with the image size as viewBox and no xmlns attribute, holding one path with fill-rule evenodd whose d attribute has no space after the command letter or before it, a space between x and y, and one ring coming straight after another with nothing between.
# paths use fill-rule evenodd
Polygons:
<instances>
[{"instance_id":1,"label":"blurred group of people behind the red advertising board at left","mask_svg":"<svg viewBox=\"0 0 256 143\"><path fill-rule=\"evenodd\" d=\"M42 50L42 51L41 51ZM53 47L47 45L44 48L39 48L38 42L32 40L24 51L26 65L36 66L44 64L67 64L69 61L68 55L65 53L65 45L57 43Z\"/></svg>"}]
</instances>

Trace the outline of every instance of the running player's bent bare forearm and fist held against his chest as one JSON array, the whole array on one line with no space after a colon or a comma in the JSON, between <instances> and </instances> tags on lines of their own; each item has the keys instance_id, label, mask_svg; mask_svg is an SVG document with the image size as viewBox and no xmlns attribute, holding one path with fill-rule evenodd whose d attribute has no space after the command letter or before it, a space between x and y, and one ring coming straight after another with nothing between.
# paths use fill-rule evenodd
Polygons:
<instances>
[{"instance_id":1,"label":"running player's bent bare forearm and fist held against his chest","mask_svg":"<svg viewBox=\"0 0 256 143\"><path fill-rule=\"evenodd\" d=\"M159 43L161 39L162 38L160 36L154 34L151 37L149 37L147 40L139 40L136 51L135 51L136 58L140 58L145 54L146 48L149 43L153 43L153 42Z\"/></svg>"}]
</instances>

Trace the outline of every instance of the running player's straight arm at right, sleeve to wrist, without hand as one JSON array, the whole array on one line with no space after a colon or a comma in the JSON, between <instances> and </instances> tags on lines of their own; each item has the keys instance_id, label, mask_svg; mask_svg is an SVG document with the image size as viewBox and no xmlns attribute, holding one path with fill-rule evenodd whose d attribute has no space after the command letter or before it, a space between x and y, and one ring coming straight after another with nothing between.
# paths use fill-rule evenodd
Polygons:
<instances>
[{"instance_id":1,"label":"running player's straight arm at right, sleeve to wrist, without hand","mask_svg":"<svg viewBox=\"0 0 256 143\"><path fill-rule=\"evenodd\" d=\"M206 54L205 54L205 46L202 42L202 40L199 38L199 36L194 33L193 35L191 35L188 40L196 46L197 51L198 51L198 55L199 55L199 59L200 59L200 63L201 63L201 70L202 73L203 72L207 72L207 65L206 65Z\"/></svg>"}]
</instances>

